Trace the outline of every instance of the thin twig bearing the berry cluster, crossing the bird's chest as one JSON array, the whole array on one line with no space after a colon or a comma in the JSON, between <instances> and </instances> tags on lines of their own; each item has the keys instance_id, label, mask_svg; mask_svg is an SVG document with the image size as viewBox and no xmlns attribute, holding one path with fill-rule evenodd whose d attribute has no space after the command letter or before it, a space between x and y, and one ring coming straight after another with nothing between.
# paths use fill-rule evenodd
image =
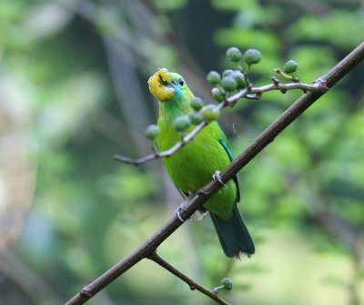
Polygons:
<instances>
[{"instance_id":1,"label":"thin twig bearing the berry cluster, crossing the bird's chest","mask_svg":"<svg viewBox=\"0 0 364 305\"><path fill-rule=\"evenodd\" d=\"M301 89L304 92L308 92L308 91L314 92L314 91L323 90L322 84L320 84L320 83L317 83L315 85L308 85L308 84L303 84L303 83L280 84L278 82L277 78L272 79L272 81L273 81L272 84L269 84L266 86L258 86L258 87L249 86L248 88L239 91L236 95L234 95L232 97L228 97L225 101L223 101L222 103L217 105L217 109L221 110L222 108L227 107L227 106L232 107L238 102L238 99L243 98L243 97L248 97L251 94L256 94L256 98L258 99L263 95L263 93L268 92L268 91L273 91L273 90L279 90L282 92L283 91L286 92L288 90L294 90L294 89ZM121 156L121 155L116 155L114 158L116 159L116 161L138 166L138 165L153 161L157 158L171 157L174 153L176 153L176 151L178 149L180 149L181 147L184 147L188 142L192 141L198 135L198 133L206 126L207 126L207 122L200 123L199 125L197 125L197 127L195 127L192 131L190 131L185 137L182 137L182 139L179 142L177 142L177 144L175 144L173 147L169 148L168 150L165 150L162 152L154 152L153 154L147 155L142 158L136 158L136 159Z\"/></svg>"}]
</instances>

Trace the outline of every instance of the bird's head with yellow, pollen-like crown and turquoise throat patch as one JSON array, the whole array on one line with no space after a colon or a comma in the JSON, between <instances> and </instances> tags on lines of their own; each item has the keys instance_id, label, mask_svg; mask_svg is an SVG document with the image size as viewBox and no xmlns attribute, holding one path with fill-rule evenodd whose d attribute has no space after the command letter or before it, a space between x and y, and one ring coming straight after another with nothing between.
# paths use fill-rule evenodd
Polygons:
<instances>
[{"instance_id":1,"label":"bird's head with yellow, pollen-like crown and turquoise throat patch","mask_svg":"<svg viewBox=\"0 0 364 305\"><path fill-rule=\"evenodd\" d=\"M148 79L150 93L157 97L159 102L169 102L181 99L184 92L189 91L185 80L177 73L160 68Z\"/></svg>"}]
</instances>

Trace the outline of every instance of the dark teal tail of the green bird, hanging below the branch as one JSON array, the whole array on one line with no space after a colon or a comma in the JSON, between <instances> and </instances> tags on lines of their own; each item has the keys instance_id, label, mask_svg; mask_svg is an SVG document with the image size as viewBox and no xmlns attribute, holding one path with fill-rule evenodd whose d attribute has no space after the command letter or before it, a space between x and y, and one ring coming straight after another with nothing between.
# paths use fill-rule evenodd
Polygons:
<instances>
[{"instance_id":1,"label":"dark teal tail of the green bird, hanging below the branch","mask_svg":"<svg viewBox=\"0 0 364 305\"><path fill-rule=\"evenodd\" d=\"M220 219L213 213L210 215L221 247L228 258L240 258L240 253L247 253L248 257L254 254L254 242L237 205L233 209L232 219Z\"/></svg>"}]
</instances>

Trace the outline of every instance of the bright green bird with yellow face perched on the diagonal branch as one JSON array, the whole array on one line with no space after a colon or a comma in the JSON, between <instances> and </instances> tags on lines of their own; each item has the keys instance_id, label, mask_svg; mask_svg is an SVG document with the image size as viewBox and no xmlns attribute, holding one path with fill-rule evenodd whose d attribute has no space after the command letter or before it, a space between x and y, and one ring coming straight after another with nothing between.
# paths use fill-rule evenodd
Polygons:
<instances>
[{"instance_id":1,"label":"bright green bird with yellow face perched on the diagonal branch","mask_svg":"<svg viewBox=\"0 0 364 305\"><path fill-rule=\"evenodd\" d=\"M159 102L157 145L164 151L180 141L181 136L174 129L173 122L177 117L193 112L190 101L195 96L182 76L168 72L166 68L158 69L150 76L148 85L150 93ZM187 131L192 129L189 127ZM163 158L163 163L173 183L186 198L205 186L212 177L218 180L219 171L226 168L232 159L227 137L213 121L170 158ZM235 177L204 204L228 258L239 258L241 253L250 256L255 252L253 240L238 209L239 200L238 178Z\"/></svg>"}]
</instances>

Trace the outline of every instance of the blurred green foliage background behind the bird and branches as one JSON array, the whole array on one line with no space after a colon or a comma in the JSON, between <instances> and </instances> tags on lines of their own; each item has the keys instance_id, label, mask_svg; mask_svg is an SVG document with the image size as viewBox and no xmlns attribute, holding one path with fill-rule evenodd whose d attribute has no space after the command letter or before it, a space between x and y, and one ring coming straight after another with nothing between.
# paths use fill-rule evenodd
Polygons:
<instances>
[{"instance_id":1,"label":"blurred green foliage background behind the bird and branches","mask_svg":"<svg viewBox=\"0 0 364 305\"><path fill-rule=\"evenodd\" d=\"M210 101L225 51L258 48L256 86L288 59L311 83L359 45L361 0L3 0L0 4L0 304L60 304L136 249L181 198L149 153L157 67ZM364 66L239 174L257 254L225 258L210 219L159 253L232 304L364 304ZM268 93L219 120L235 154L299 92ZM212 304L142 261L89 304Z\"/></svg>"}]
</instances>

